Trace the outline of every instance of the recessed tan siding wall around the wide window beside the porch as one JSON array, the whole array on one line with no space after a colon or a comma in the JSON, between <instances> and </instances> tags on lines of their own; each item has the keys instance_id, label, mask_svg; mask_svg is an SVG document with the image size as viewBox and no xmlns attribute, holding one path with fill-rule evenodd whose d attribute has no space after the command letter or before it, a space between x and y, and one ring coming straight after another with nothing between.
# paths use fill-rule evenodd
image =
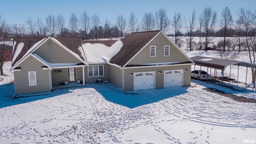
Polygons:
<instances>
[{"instance_id":1,"label":"recessed tan siding wall around the wide window beside the porch","mask_svg":"<svg viewBox=\"0 0 256 144\"><path fill-rule=\"evenodd\" d=\"M101 79L102 82L109 80L108 77L108 64L90 64L89 66L103 65L104 76L88 77L88 66L84 68L85 74L85 83L96 83L98 79Z\"/></svg>"}]
</instances>

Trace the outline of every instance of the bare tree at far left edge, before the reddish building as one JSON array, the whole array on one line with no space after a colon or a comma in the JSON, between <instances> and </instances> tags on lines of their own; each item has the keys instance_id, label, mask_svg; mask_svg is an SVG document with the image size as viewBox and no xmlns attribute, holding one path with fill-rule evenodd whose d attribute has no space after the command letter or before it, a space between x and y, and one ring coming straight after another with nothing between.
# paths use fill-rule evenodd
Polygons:
<instances>
[{"instance_id":1,"label":"bare tree at far left edge, before the reddish building","mask_svg":"<svg viewBox=\"0 0 256 144\"><path fill-rule=\"evenodd\" d=\"M3 65L12 56L12 46L8 44L11 27L0 16L0 75L4 75Z\"/></svg>"}]
</instances>

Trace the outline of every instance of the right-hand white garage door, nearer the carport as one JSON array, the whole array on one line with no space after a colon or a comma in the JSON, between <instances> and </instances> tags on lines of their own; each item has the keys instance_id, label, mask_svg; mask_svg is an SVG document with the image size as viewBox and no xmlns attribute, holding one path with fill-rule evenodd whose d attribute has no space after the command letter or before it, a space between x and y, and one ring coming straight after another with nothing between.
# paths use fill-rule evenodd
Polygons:
<instances>
[{"instance_id":1,"label":"right-hand white garage door, nearer the carport","mask_svg":"<svg viewBox=\"0 0 256 144\"><path fill-rule=\"evenodd\" d=\"M164 70L164 88L183 86L183 70Z\"/></svg>"}]
</instances>

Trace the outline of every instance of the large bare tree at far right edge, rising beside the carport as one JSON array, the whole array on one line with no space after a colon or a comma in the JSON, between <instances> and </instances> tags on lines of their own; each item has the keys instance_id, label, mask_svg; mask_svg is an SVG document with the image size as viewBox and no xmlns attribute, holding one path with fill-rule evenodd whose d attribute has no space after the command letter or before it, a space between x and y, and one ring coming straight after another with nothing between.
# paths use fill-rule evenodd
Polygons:
<instances>
[{"instance_id":1,"label":"large bare tree at far right edge, rising beside the carport","mask_svg":"<svg viewBox=\"0 0 256 144\"><path fill-rule=\"evenodd\" d=\"M248 57L252 64L256 64L256 21L255 14L250 8L240 8L238 12L239 22L245 31L246 48L248 50ZM255 83L256 69L252 70L252 83Z\"/></svg>"}]
</instances>

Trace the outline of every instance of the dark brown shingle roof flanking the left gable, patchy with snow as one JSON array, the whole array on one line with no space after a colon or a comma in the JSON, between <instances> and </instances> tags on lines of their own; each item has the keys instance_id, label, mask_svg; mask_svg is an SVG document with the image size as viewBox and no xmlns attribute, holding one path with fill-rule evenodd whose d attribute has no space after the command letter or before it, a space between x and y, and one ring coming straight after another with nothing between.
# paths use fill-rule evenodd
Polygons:
<instances>
[{"instance_id":1,"label":"dark brown shingle roof flanking the left gable, patchy with snow","mask_svg":"<svg viewBox=\"0 0 256 144\"><path fill-rule=\"evenodd\" d=\"M16 42L16 45L14 46L14 52L17 49L17 46L19 43L23 42L24 46L20 52L20 54L17 56L17 58L12 62L12 66L14 66L25 54L30 50L34 44L39 42L44 38L14 38L13 41ZM76 37L54 37L58 42L60 42L63 46L77 54L82 60L84 60L84 57L82 56L81 52L78 50L79 46L82 48L80 38ZM39 45L39 44L38 44ZM84 60L86 61L86 60Z\"/></svg>"}]
</instances>

